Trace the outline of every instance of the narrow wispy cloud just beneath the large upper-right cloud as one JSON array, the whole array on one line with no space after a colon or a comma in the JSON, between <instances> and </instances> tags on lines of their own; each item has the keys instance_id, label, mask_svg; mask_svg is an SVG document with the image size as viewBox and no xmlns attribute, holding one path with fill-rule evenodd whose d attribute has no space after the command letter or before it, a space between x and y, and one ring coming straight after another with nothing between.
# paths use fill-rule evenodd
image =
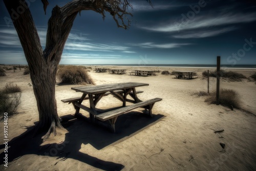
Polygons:
<instances>
[{"instance_id":1,"label":"narrow wispy cloud just beneath the large upper-right cloud","mask_svg":"<svg viewBox=\"0 0 256 171\"><path fill-rule=\"evenodd\" d=\"M232 31L236 28L234 27L228 27L218 30L201 30L201 31L189 31L185 33L181 33L178 35L173 35L172 37L175 38L203 38L203 37L211 37L211 36L217 36L219 34L223 34L229 31Z\"/></svg>"}]
</instances>

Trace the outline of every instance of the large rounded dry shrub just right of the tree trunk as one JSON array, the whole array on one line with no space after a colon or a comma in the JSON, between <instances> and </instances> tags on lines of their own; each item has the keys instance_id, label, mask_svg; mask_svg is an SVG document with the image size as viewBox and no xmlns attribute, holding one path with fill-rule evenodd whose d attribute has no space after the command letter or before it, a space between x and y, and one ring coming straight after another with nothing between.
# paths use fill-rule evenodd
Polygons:
<instances>
[{"instance_id":1,"label":"large rounded dry shrub just right of the tree trunk","mask_svg":"<svg viewBox=\"0 0 256 171\"><path fill-rule=\"evenodd\" d=\"M95 84L87 71L78 66L61 67L57 77L60 79L60 83Z\"/></svg>"}]
</instances>

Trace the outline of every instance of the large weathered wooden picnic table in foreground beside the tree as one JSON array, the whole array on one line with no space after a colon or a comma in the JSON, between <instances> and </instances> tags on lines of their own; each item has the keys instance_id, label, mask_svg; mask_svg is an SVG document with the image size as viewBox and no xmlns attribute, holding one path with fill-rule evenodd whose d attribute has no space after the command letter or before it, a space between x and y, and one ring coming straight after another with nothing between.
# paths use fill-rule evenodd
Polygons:
<instances>
[{"instance_id":1,"label":"large weathered wooden picnic table in foreground beside the tree","mask_svg":"<svg viewBox=\"0 0 256 171\"><path fill-rule=\"evenodd\" d=\"M62 102L72 103L76 112L75 115L82 116L93 123L103 124L102 121L108 120L110 122L112 132L115 132L115 122L119 115L130 112L137 108L144 108L148 110L151 117L152 108L157 101L161 101L161 98L153 98L146 101L141 101L137 97L137 93L142 93L141 91L136 91L137 87L148 86L147 83L138 82L123 82L123 83L112 83L112 84L102 84L97 86L83 86L71 88L76 92L81 92L82 96L76 98L69 98L61 100ZM103 96L113 95L118 100L122 101L122 106L118 109L98 110L96 109L96 104L100 101ZM127 95L130 95L132 99L127 99ZM88 97L87 97L88 96ZM90 107L81 104L83 100L89 99ZM126 102L133 103L132 105L127 105ZM80 109L83 109L90 113L90 118L87 118L79 113Z\"/></svg>"}]
</instances>

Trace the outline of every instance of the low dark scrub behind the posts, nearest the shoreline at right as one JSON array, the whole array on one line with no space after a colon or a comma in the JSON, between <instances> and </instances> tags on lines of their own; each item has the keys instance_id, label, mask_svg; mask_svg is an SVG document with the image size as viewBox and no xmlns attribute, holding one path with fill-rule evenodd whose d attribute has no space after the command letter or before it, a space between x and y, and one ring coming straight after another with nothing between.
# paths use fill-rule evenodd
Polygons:
<instances>
[{"instance_id":1,"label":"low dark scrub behind the posts, nearest the shoreline at right","mask_svg":"<svg viewBox=\"0 0 256 171\"><path fill-rule=\"evenodd\" d=\"M204 77L207 77L207 71L204 71L202 73ZM242 79L246 78L243 74L233 72L233 71L225 71L225 70L220 70L220 75L223 78L227 78L229 81L242 81ZM217 76L217 71L209 71L209 77L216 77Z\"/></svg>"}]
</instances>

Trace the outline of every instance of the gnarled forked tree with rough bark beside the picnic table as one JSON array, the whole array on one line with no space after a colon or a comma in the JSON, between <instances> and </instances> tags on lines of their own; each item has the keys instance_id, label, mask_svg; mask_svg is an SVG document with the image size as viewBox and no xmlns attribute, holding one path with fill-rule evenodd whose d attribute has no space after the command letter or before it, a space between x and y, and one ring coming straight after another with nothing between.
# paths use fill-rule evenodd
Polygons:
<instances>
[{"instance_id":1,"label":"gnarled forked tree with rough bark beside the picnic table","mask_svg":"<svg viewBox=\"0 0 256 171\"><path fill-rule=\"evenodd\" d=\"M127 12L127 10L132 6L127 0L74 0L63 7L56 6L53 8L52 16L48 21L46 47L43 50L26 1L3 1L12 17L13 25L28 62L39 113L36 133L47 131L44 136L44 139L47 139L51 133L56 135L56 127L62 127L57 114L55 77L75 17L82 10L93 10L100 13L103 18L105 12L109 12L117 26L126 29L130 26L130 20L126 18L126 15L132 16L132 13ZM47 0L41 1L46 12L49 3ZM150 0L147 1L151 3ZM124 22L125 19L127 19L127 24Z\"/></svg>"}]
</instances>

